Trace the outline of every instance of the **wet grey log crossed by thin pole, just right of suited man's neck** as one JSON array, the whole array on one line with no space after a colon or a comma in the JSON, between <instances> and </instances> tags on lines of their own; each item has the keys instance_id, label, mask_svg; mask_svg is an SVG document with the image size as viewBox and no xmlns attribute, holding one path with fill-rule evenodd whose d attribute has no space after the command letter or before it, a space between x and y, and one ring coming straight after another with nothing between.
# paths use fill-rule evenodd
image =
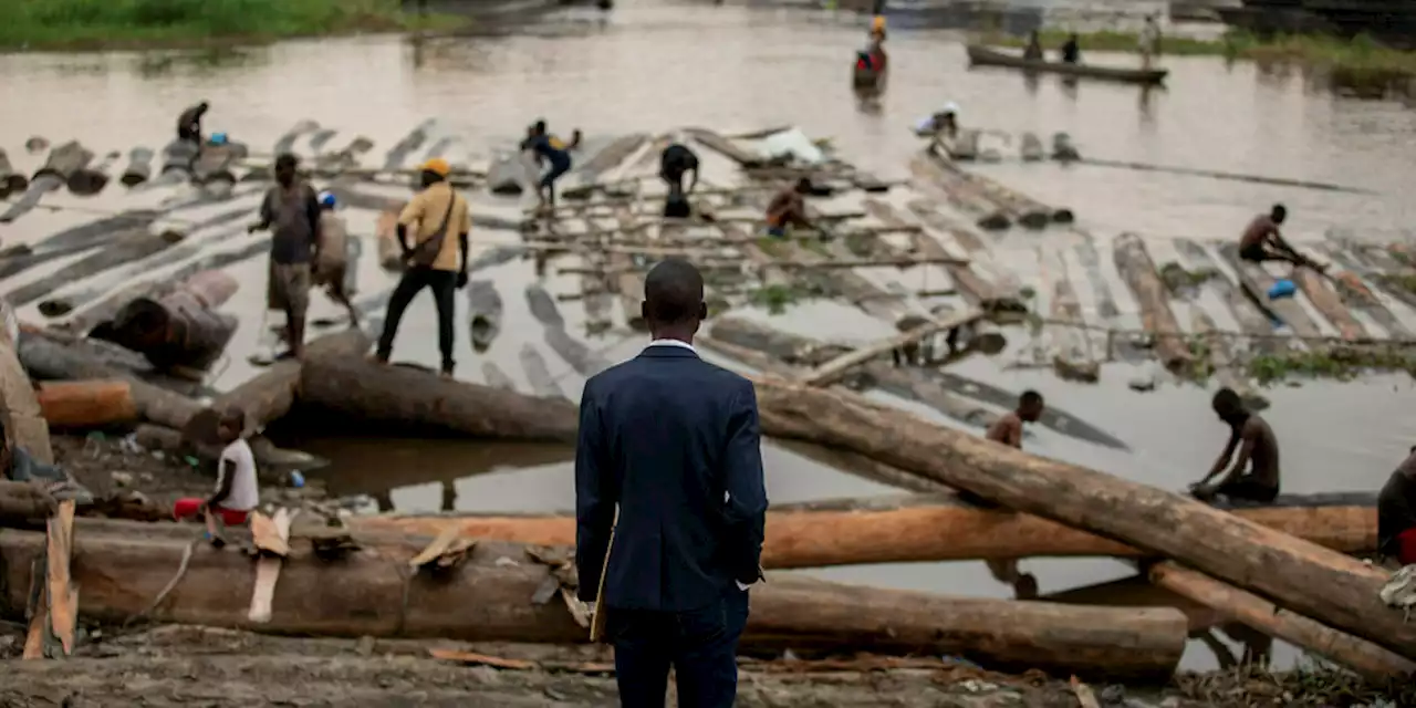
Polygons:
<instances>
[{"instance_id":1,"label":"wet grey log crossed by thin pole, just right of suited man's neck","mask_svg":"<svg viewBox=\"0 0 1416 708\"><path fill-rule=\"evenodd\" d=\"M770 354L797 367L814 367L840 353L840 347L736 317L714 320L711 334L715 341ZM895 367L885 361L868 361L860 365L858 372L861 375L852 378L854 385L879 388L888 394L919 401L949 418L973 426L987 428L998 418L990 409L944 389L918 367Z\"/></svg>"}]
</instances>

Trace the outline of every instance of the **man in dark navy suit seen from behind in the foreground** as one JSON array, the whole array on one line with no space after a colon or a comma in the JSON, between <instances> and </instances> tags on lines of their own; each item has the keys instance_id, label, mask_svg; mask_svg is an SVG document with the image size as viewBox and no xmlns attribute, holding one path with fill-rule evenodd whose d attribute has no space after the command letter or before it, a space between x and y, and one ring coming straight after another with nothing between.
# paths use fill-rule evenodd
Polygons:
<instances>
[{"instance_id":1,"label":"man in dark navy suit seen from behind in the foreground","mask_svg":"<svg viewBox=\"0 0 1416 708\"><path fill-rule=\"evenodd\" d=\"M748 586L762 578L758 398L750 381L694 351L708 314L698 269L654 266L643 313L653 341L581 396L579 595L606 613L622 707L663 708L673 666L680 705L726 708Z\"/></svg>"}]
</instances>

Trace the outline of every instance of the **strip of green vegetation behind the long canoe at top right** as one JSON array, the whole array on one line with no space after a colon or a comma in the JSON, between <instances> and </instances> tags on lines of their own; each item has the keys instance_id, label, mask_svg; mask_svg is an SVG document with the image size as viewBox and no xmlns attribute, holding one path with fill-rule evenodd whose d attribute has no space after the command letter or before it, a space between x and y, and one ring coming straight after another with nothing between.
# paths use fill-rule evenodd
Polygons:
<instances>
[{"instance_id":1,"label":"strip of green vegetation behind the long canoe at top right","mask_svg":"<svg viewBox=\"0 0 1416 708\"><path fill-rule=\"evenodd\" d=\"M1042 47L1054 55L1068 38L1065 30L1044 30ZM1097 31L1078 33L1082 45L1082 61L1087 51L1138 51L1136 33ZM987 44L1003 47L1024 47L1025 37L993 34L983 38ZM1259 38L1242 31L1229 31L1218 40L1194 40L1188 37L1164 37L1161 55L1221 55L1238 59L1290 62L1306 67L1391 72L1416 75L1416 52L1385 47L1371 37L1358 35L1351 40L1321 35L1284 35Z\"/></svg>"}]
</instances>

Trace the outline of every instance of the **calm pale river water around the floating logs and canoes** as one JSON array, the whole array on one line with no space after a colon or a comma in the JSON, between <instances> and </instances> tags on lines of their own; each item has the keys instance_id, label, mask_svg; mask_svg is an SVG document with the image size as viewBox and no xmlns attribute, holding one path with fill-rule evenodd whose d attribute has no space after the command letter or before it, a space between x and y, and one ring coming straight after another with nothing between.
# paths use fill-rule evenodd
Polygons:
<instances>
[{"instance_id":1,"label":"calm pale river water around the floating logs and canoes","mask_svg":"<svg viewBox=\"0 0 1416 708\"><path fill-rule=\"evenodd\" d=\"M1100 167L984 167L1012 188L1070 207L1099 239L1124 231L1160 244L1170 236L1232 238L1274 201L1289 205L1290 238L1301 242L1335 231L1408 238L1403 229L1416 215L1416 204L1405 194L1416 184L1416 113L1393 102L1337 98L1300 72L1187 57L1165 59L1171 76L1163 91L1068 85L1055 78L1032 82L1007 71L969 71L954 34L898 31L889 40L889 91L878 110L864 110L848 91L845 67L861 41L861 27L824 11L630 0L610 14L566 10L527 27L421 45L392 37L299 41L221 61L7 55L0 57L0 75L10 86L7 96L18 99L0 102L0 144L25 167L33 167L33 159L16 153L30 135L76 137L102 150L160 146L183 106L208 99L214 108L207 129L229 132L253 146L269 146L292 123L312 118L341 130L336 144L364 135L381 153L413 125L438 118L447 133L464 139L472 160L508 144L530 120L542 116L554 130L578 126L592 137L685 125L721 132L797 125L809 135L831 136L845 159L889 178L908 177L908 160L919 149L908 126L956 101L970 125L1068 132L1092 157L1320 180L1378 193L1298 191ZM1102 54L1089 59L1134 61ZM95 211L125 208L132 201L118 190L85 201L67 194L47 198ZM514 214L514 207L508 212ZM6 244L33 239L86 218L92 215L38 211L3 227L0 238ZM351 224L367 231L372 217L351 215ZM392 283L371 261L365 258L360 270L364 292ZM47 270L52 268L35 269L14 285ZM263 280L259 259L232 270L244 283ZM510 362L510 371L521 344L539 338L539 327L520 297L528 268L514 263L490 276L507 300L506 331L491 355ZM320 300L316 297L314 314L333 313ZM259 285L244 287L228 309L242 316L242 329L218 388L252 372L244 358L259 338ZM21 310L27 313L33 310ZM803 333L857 341L892 331L864 314L827 304L793 309L779 320ZM432 333L432 306L422 299L405 320L395 358L435 364ZM640 338L592 343L605 347L610 358L633 355L640 344ZM459 347L460 374L476 379L476 358L462 330ZM583 379L566 371L562 362L552 362L552 372L562 375L575 398ZM1167 387L1157 394L1133 394L1121 384L1130 375L1121 365L1107 367L1100 387L1061 382L1041 371L1003 371L986 360L961 362L956 371L1011 391L1037 388L1051 402L1131 445L1130 452L1107 450L1042 430L1028 440L1031 450L1146 483L1178 489L1198 479L1223 442L1225 430L1209 413L1205 391ZM513 377L520 379L517 372ZM1413 442L1410 395L1409 381L1386 377L1272 391L1273 408L1266 416L1283 445L1286 491L1376 489ZM300 443L334 459L327 474L331 490L370 493L370 510L573 506L568 450L333 438ZM776 445L765 446L765 459L775 501L892 491ZM1039 576L1042 592L1131 572L1112 561L1027 561L1024 569ZM858 566L818 575L966 595L1010 593L981 564ZM1195 650L1185 664L1204 668L1214 660Z\"/></svg>"}]
</instances>

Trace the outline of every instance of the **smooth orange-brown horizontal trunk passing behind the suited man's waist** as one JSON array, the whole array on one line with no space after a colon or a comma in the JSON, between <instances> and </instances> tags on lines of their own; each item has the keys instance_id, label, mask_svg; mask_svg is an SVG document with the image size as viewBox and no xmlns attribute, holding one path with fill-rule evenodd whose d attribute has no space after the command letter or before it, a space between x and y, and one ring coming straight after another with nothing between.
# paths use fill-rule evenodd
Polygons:
<instances>
[{"instance_id":1,"label":"smooth orange-brown horizontal trunk passing behind the suited man's waist","mask_svg":"<svg viewBox=\"0 0 1416 708\"><path fill-rule=\"evenodd\" d=\"M1334 551L1376 548L1375 494L1284 497L1293 506L1236 508L1235 515ZM469 538L575 545L575 515L378 515L354 528L438 535L456 525ZM1031 514L988 510L954 496L775 504L767 511L765 568L977 561L1031 556L1140 556L1143 551Z\"/></svg>"}]
</instances>

